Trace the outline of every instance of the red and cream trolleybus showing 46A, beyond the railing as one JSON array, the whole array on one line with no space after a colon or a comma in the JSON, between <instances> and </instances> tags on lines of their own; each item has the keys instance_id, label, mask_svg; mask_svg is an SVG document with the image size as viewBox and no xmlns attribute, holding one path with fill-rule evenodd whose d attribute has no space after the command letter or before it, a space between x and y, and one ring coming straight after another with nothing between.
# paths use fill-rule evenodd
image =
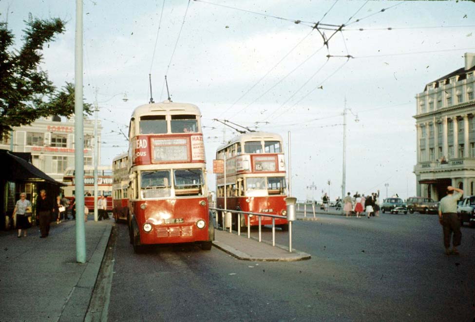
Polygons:
<instances>
[{"instance_id":1,"label":"red and cream trolleybus showing 46A, beyond the railing","mask_svg":"<svg viewBox=\"0 0 475 322\"><path fill-rule=\"evenodd\" d=\"M282 215L282 219L275 219L275 225L287 231L282 137L266 132L244 133L219 147L216 159L226 160L226 186L224 173L216 175L217 208L225 208L226 194L227 209ZM259 225L258 216L249 219L250 226ZM237 221L238 216L232 214L232 226L236 230ZM247 227L247 224L248 216L241 216L239 225ZM272 217L261 217L261 225L271 224Z\"/></svg>"}]
</instances>

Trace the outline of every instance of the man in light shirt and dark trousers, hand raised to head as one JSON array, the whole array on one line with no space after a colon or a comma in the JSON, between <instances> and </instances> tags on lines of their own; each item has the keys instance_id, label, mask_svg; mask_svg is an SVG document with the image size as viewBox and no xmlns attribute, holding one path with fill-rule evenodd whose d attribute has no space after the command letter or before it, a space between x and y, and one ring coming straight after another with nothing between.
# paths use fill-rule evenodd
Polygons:
<instances>
[{"instance_id":1,"label":"man in light shirt and dark trousers, hand raised to head","mask_svg":"<svg viewBox=\"0 0 475 322\"><path fill-rule=\"evenodd\" d=\"M454 193L454 191L456 191ZM462 241L462 232L460 231L460 220L457 215L457 202L463 195L463 190L452 186L447 187L447 195L440 199L439 203L439 222L444 232L444 246L447 255L458 255L457 246ZM450 240L452 239L452 249L450 249Z\"/></svg>"}]
</instances>

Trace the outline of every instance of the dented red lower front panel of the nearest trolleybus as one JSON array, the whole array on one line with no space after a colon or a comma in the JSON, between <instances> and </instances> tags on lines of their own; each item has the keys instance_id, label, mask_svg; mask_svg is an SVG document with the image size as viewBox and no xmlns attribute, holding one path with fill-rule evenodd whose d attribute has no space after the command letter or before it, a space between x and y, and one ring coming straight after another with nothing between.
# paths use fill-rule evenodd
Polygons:
<instances>
[{"instance_id":1,"label":"dented red lower front panel of the nearest trolleybus","mask_svg":"<svg viewBox=\"0 0 475 322\"><path fill-rule=\"evenodd\" d=\"M200 202L204 201L205 206ZM176 244L208 241L208 200L203 198L132 201L135 219L140 230L141 244ZM145 209L141 205L145 204ZM198 228L198 220L205 221L205 227ZM152 225L152 231L143 230L145 223Z\"/></svg>"}]
</instances>

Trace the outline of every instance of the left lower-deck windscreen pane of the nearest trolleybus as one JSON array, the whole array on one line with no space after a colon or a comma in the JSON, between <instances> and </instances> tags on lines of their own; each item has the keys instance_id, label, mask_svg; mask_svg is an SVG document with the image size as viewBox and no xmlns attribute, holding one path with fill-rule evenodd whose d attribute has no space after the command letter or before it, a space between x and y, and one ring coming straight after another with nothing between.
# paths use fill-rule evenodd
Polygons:
<instances>
[{"instance_id":1,"label":"left lower-deck windscreen pane of the nearest trolleybus","mask_svg":"<svg viewBox=\"0 0 475 322\"><path fill-rule=\"evenodd\" d=\"M140 188L142 198L170 197L170 171L142 171Z\"/></svg>"}]
</instances>

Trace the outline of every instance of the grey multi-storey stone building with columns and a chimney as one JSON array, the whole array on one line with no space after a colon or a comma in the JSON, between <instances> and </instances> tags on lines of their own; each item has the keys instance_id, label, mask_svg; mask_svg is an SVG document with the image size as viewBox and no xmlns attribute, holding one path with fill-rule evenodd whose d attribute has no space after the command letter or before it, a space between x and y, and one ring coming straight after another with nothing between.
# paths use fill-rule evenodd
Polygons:
<instances>
[{"instance_id":1,"label":"grey multi-storey stone building with columns and a chimney","mask_svg":"<svg viewBox=\"0 0 475 322\"><path fill-rule=\"evenodd\" d=\"M440 200L448 185L475 194L475 54L416 95L417 195Z\"/></svg>"}]
</instances>

